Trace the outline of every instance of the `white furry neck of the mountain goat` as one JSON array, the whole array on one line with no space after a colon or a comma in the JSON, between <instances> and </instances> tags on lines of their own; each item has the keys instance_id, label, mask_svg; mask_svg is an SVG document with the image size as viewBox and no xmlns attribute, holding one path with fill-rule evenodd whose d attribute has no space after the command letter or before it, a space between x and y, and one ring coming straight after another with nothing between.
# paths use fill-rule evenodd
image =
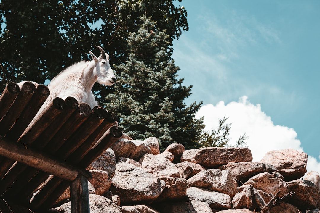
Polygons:
<instances>
[{"instance_id":1,"label":"white furry neck of the mountain goat","mask_svg":"<svg viewBox=\"0 0 320 213\"><path fill-rule=\"evenodd\" d=\"M86 64L86 67L82 73L82 86L84 87L87 93L91 92L91 89L94 83L98 80L98 75L95 70L95 63L94 61L90 61Z\"/></svg>"}]
</instances>

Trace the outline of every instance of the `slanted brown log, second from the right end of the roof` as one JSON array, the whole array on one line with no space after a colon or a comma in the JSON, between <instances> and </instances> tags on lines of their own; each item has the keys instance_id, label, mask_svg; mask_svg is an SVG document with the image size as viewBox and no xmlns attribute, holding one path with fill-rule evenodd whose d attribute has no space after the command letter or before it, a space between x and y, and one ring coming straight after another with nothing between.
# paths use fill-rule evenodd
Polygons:
<instances>
[{"instance_id":1,"label":"slanted brown log, second from the right end of the roof","mask_svg":"<svg viewBox=\"0 0 320 213\"><path fill-rule=\"evenodd\" d=\"M88 137L88 139L79 146L67 159L68 162L78 163L94 144L101 138L101 136L108 131L111 126L117 125L116 116L112 112L107 112L107 118L100 124L100 126Z\"/></svg>"}]
</instances>

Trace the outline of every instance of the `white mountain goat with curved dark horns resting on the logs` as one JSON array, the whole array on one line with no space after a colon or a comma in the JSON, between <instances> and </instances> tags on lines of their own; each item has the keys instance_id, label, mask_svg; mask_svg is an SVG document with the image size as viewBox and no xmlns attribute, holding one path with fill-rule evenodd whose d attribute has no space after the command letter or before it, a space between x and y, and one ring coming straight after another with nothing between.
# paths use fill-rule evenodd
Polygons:
<instances>
[{"instance_id":1,"label":"white mountain goat with curved dark horns resting on the logs","mask_svg":"<svg viewBox=\"0 0 320 213\"><path fill-rule=\"evenodd\" d=\"M65 99L72 96L78 103L89 104L91 109L97 105L91 91L94 83L98 81L111 86L116 83L116 76L110 67L109 55L101 47L96 47L101 51L99 58L89 51L93 60L77 62L52 79L48 85L51 93L46 102L52 102L55 97Z\"/></svg>"}]
</instances>

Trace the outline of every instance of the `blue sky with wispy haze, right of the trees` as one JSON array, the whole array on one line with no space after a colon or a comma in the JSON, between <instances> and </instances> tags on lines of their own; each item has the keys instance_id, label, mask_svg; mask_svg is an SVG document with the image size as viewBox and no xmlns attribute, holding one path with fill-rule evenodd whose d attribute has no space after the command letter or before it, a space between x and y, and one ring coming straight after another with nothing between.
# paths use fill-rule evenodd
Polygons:
<instances>
[{"instance_id":1,"label":"blue sky with wispy haze, right of the trees","mask_svg":"<svg viewBox=\"0 0 320 213\"><path fill-rule=\"evenodd\" d=\"M274 126L293 130L293 140L319 161L320 1L179 4L187 10L189 31L174 41L172 57L184 85L193 85L186 103L260 107Z\"/></svg>"}]
</instances>

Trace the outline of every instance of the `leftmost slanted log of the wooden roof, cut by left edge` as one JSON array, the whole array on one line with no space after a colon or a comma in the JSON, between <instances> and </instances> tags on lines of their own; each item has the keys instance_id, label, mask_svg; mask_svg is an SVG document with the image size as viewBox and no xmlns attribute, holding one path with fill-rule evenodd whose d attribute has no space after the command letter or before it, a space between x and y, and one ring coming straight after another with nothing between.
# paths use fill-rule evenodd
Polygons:
<instances>
[{"instance_id":1,"label":"leftmost slanted log of the wooden roof, cut by left edge","mask_svg":"<svg viewBox=\"0 0 320 213\"><path fill-rule=\"evenodd\" d=\"M16 99L18 93L20 92L20 87L14 82L9 82L4 88L2 95L0 96L0 120L9 110L14 99Z\"/></svg>"}]
</instances>

